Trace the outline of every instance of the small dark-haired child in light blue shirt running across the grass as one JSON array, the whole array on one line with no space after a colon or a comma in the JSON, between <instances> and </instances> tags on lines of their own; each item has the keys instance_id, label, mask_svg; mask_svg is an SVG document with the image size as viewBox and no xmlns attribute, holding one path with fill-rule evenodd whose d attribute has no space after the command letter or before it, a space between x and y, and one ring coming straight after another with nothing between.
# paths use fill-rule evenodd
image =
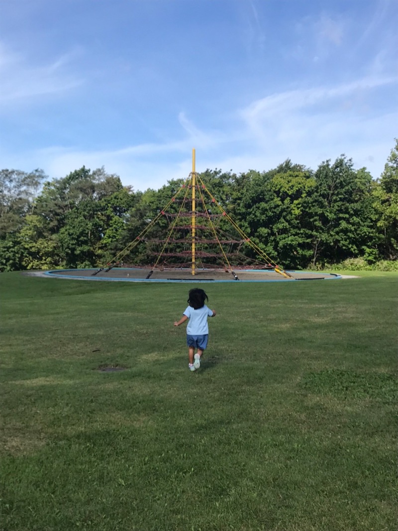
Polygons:
<instances>
[{"instance_id":1,"label":"small dark-haired child in light blue shirt running across the grass","mask_svg":"<svg viewBox=\"0 0 398 531\"><path fill-rule=\"evenodd\" d=\"M187 324L188 367L190 371L196 371L201 366L201 356L209 338L207 317L214 317L215 312L205 305L205 299L208 301L209 298L203 289L194 288L189 290L188 297L189 306L181 319L178 322L175 321L174 326L179 327L180 324L189 319ZM195 348L197 348L197 353L194 356Z\"/></svg>"}]
</instances>

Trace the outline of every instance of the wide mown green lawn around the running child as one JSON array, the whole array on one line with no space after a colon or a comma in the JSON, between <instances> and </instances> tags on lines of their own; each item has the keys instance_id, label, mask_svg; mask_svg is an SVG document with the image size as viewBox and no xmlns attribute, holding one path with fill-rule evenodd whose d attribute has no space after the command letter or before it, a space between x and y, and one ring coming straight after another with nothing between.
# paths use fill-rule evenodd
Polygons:
<instances>
[{"instance_id":1,"label":"wide mown green lawn around the running child","mask_svg":"<svg viewBox=\"0 0 398 531\"><path fill-rule=\"evenodd\" d=\"M0 529L395 530L398 275L191 287L0 275Z\"/></svg>"}]
</instances>

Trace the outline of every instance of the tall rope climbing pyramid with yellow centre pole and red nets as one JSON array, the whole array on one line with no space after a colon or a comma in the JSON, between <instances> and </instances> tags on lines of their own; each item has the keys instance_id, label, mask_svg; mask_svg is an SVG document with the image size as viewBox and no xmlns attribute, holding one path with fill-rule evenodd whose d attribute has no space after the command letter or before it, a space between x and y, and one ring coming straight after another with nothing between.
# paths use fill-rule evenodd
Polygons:
<instances>
[{"instance_id":1,"label":"tall rope climbing pyramid with yellow centre pole and red nets","mask_svg":"<svg viewBox=\"0 0 398 531\"><path fill-rule=\"evenodd\" d=\"M141 264L137 263L137 258ZM273 269L285 277L280 268L253 242L223 209L193 169L177 193L148 225L118 252L106 266L93 273L114 267L184 269L194 276L198 270L229 271L236 280L242 269Z\"/></svg>"}]
</instances>

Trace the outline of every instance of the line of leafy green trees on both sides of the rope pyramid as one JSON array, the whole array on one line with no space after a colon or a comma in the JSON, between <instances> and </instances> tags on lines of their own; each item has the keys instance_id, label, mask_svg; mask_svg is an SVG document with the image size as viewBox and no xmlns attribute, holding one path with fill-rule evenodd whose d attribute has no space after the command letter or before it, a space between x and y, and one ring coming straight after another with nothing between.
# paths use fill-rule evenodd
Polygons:
<instances>
[{"instance_id":1,"label":"line of leafy green trees on both sides of the rope pyramid","mask_svg":"<svg viewBox=\"0 0 398 531\"><path fill-rule=\"evenodd\" d=\"M316 170L288 159L266 172L207 169L200 176L237 225L284 268L398 258L398 140L378 179L344 155ZM3 169L0 271L101 267L183 183L141 192L104 168L83 166L51 180L39 169Z\"/></svg>"}]
</instances>

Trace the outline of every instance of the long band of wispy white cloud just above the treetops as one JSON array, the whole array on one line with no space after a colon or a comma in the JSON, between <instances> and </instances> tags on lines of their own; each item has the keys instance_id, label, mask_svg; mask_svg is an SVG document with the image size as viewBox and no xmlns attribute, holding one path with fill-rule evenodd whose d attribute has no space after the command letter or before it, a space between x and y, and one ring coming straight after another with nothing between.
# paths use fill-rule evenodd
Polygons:
<instances>
[{"instance_id":1,"label":"long band of wispy white cloud just above the treetops","mask_svg":"<svg viewBox=\"0 0 398 531\"><path fill-rule=\"evenodd\" d=\"M180 134L167 141L114 150L50 147L27 153L28 168L43 167L44 163L46 172L59 178L83 165L91 169L105 166L135 190L158 189L170 179L187 178L195 148L198 171L216 167L236 173L248 169L263 171L287 158L316 169L323 160L344 152L353 158L356 167L366 166L378 177L380 160L385 161L391 149L398 112L373 116L354 113L347 120L344 113L335 114L327 105L321 105L318 113L307 111L319 102L394 82L397 79L362 79L335 87L274 94L237 112L236 122L228 132L203 133L180 113ZM205 142L201 143L202 136Z\"/></svg>"}]
</instances>

